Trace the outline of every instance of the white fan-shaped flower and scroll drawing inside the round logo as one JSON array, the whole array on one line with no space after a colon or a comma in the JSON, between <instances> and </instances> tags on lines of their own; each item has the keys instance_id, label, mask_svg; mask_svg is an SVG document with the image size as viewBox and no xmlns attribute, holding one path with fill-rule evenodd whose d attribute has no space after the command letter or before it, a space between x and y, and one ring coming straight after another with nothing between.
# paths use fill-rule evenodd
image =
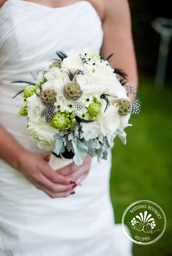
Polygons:
<instances>
[{"instance_id":1,"label":"white fan-shaped flower and scroll drawing inside the round logo","mask_svg":"<svg viewBox=\"0 0 172 256\"><path fill-rule=\"evenodd\" d=\"M144 212L144 216L142 213L139 213L139 215L136 215L136 218L133 218L131 220L130 225L132 226L132 229L135 229L137 231L144 231L145 233L154 233L153 229L156 226L155 224L155 219L151 218L152 214L148 214L147 216L147 211Z\"/></svg>"}]
</instances>

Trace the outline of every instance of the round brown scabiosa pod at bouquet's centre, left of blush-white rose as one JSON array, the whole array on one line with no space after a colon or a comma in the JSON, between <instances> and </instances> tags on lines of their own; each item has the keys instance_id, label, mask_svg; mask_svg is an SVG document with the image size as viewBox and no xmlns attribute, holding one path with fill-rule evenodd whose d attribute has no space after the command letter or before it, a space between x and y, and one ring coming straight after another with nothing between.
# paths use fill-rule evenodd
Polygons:
<instances>
[{"instance_id":1,"label":"round brown scabiosa pod at bouquet's centre, left of blush-white rose","mask_svg":"<svg viewBox=\"0 0 172 256\"><path fill-rule=\"evenodd\" d=\"M63 87L63 95L67 100L78 100L82 95L83 91L81 90L78 82L69 82Z\"/></svg>"}]
</instances>

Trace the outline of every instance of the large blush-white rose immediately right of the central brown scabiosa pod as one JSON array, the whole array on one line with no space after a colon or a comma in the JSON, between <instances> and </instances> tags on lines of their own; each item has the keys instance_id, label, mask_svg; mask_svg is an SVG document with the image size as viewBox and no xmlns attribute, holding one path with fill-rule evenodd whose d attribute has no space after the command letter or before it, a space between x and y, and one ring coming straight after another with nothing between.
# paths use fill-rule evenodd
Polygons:
<instances>
[{"instance_id":1,"label":"large blush-white rose immediately right of the central brown scabiosa pod","mask_svg":"<svg viewBox=\"0 0 172 256\"><path fill-rule=\"evenodd\" d=\"M79 83L81 90L85 93L96 93L99 95L105 92L106 86L104 80L100 76L94 76L92 74L85 74L83 76L76 77L76 81Z\"/></svg>"}]
</instances>

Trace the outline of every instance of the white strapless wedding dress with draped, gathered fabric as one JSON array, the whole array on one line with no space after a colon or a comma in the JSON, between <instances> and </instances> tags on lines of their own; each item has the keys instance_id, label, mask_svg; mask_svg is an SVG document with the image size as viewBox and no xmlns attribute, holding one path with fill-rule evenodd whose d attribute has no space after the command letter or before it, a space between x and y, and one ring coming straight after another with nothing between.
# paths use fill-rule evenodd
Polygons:
<instances>
[{"instance_id":1,"label":"white strapless wedding dress with draped, gathered fabric","mask_svg":"<svg viewBox=\"0 0 172 256\"><path fill-rule=\"evenodd\" d=\"M55 9L22 0L3 4L0 122L24 148L43 152L31 141L26 118L18 114L22 95L12 99L24 86L10 82L32 80L31 73L47 68L57 50L87 47L99 53L102 39L101 21L87 1ZM110 156L101 164L93 158L74 195L51 199L1 159L0 256L132 255L121 225L114 225L110 168Z\"/></svg>"}]
</instances>

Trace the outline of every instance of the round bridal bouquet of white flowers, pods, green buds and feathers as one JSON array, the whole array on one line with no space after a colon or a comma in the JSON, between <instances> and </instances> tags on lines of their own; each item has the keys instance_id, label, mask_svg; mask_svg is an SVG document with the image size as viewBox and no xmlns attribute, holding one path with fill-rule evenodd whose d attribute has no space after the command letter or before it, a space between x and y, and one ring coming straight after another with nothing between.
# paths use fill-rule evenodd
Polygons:
<instances>
[{"instance_id":1,"label":"round bridal bouquet of white flowers, pods, green buds and feathers","mask_svg":"<svg viewBox=\"0 0 172 256\"><path fill-rule=\"evenodd\" d=\"M40 149L77 165L87 153L97 155L98 161L107 159L116 135L126 143L124 128L131 113L139 112L139 103L132 104L128 97L130 88L118 79L126 74L98 54L56 54L59 59L37 72L35 82L24 89L19 114L28 117L31 139ZM52 154L57 159L54 168L60 168L56 156Z\"/></svg>"}]
</instances>

